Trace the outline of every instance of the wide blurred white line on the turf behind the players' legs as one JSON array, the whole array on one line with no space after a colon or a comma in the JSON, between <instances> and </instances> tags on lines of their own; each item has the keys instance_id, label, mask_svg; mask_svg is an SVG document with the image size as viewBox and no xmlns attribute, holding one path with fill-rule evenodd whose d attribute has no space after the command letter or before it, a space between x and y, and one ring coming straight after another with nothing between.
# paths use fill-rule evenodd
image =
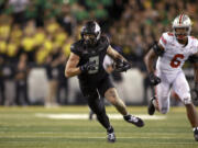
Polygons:
<instances>
[{"instance_id":1,"label":"wide blurred white line on the turf behind the players' legs","mask_svg":"<svg viewBox=\"0 0 198 148\"><path fill-rule=\"evenodd\" d=\"M88 119L89 115L87 114L43 114L43 113L37 113L35 114L37 117L46 117L46 118L53 118L53 119ZM123 116L120 114L108 114L108 116L111 119L123 119ZM145 114L139 114L135 115L139 116L143 119L165 119L165 115L145 115Z\"/></svg>"}]
</instances>

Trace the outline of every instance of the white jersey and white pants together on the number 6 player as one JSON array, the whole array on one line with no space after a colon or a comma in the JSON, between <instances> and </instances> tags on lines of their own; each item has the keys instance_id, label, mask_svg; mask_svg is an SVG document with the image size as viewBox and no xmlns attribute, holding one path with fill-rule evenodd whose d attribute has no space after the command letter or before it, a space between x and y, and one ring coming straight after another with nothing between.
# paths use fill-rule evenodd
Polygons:
<instances>
[{"instance_id":1,"label":"white jersey and white pants together on the number 6 player","mask_svg":"<svg viewBox=\"0 0 198 148\"><path fill-rule=\"evenodd\" d=\"M172 33L163 33L160 44L165 53L157 59L156 76L161 78L161 83L155 87L155 96L160 112L165 114L169 110L170 89L184 104L191 102L190 88L182 67L190 55L198 52L198 41L188 36L188 44L184 46Z\"/></svg>"}]
</instances>

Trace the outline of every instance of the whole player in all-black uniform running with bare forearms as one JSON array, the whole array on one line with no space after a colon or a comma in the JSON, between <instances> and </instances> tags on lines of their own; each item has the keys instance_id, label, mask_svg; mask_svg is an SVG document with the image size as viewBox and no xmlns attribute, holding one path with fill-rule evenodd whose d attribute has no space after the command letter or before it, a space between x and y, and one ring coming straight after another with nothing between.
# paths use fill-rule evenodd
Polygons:
<instances>
[{"instance_id":1,"label":"whole player in all-black uniform running with bare forearms","mask_svg":"<svg viewBox=\"0 0 198 148\"><path fill-rule=\"evenodd\" d=\"M114 143L116 136L100 96L106 96L123 114L123 118L127 122L138 127L144 126L141 118L128 113L124 103L118 96L117 90L103 69L102 64L106 54L123 69L130 67L130 62L110 46L106 36L101 36L101 30L97 22L89 21L82 26L81 39L70 46L70 52L65 68L65 76L78 76L80 90L87 98L89 107L96 113L98 121L107 129L108 141Z\"/></svg>"}]
</instances>

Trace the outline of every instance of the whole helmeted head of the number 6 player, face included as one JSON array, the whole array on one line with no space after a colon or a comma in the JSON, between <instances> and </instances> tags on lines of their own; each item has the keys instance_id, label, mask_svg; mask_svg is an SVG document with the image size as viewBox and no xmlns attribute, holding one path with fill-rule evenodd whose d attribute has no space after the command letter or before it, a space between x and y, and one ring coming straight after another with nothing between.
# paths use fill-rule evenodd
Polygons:
<instances>
[{"instance_id":1,"label":"whole helmeted head of the number 6 player, face included","mask_svg":"<svg viewBox=\"0 0 198 148\"><path fill-rule=\"evenodd\" d=\"M191 20L188 15L180 14L175 18L172 27L177 39L185 39L190 35Z\"/></svg>"}]
</instances>

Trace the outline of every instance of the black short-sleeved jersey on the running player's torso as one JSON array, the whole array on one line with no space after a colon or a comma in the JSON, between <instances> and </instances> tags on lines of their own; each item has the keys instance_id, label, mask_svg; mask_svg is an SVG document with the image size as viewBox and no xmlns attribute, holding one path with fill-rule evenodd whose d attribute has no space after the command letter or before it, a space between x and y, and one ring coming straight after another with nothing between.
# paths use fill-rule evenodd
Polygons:
<instances>
[{"instance_id":1,"label":"black short-sleeved jersey on the running player's torso","mask_svg":"<svg viewBox=\"0 0 198 148\"><path fill-rule=\"evenodd\" d=\"M108 75L102 66L108 46L109 39L107 36L101 36L95 47L85 46L82 39L70 46L70 52L80 57L78 66L85 65L88 61L96 61L97 65L95 70L89 70L87 73L80 73L78 76L80 81L95 84Z\"/></svg>"}]
</instances>

